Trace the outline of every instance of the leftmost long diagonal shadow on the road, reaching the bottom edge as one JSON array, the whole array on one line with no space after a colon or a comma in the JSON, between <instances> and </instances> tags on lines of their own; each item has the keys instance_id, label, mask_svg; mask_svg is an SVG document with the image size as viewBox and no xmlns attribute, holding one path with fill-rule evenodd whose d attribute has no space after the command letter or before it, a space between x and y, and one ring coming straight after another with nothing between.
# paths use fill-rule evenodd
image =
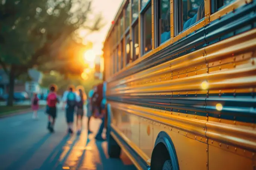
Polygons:
<instances>
[{"instance_id":1,"label":"leftmost long diagonal shadow on the road, reaching the bottom edge","mask_svg":"<svg viewBox=\"0 0 256 170\"><path fill-rule=\"evenodd\" d=\"M23 155L21 155L20 159L17 161L13 162L9 167L6 168L6 170L14 170L14 169L19 169L22 165L24 165L24 162L27 162L39 149L44 142L50 137L51 134L46 134L44 135L41 140L39 140L37 143L35 143L27 152L25 152Z\"/></svg>"}]
</instances>

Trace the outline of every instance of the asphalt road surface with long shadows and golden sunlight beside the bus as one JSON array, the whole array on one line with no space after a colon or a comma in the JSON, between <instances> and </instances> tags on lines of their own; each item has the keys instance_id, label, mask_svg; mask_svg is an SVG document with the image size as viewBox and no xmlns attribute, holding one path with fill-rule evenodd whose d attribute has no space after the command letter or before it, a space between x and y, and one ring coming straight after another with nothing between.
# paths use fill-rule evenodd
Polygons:
<instances>
[{"instance_id":1,"label":"asphalt road surface with long shadows and golden sunlight beside the bus","mask_svg":"<svg viewBox=\"0 0 256 170\"><path fill-rule=\"evenodd\" d=\"M89 136L86 118L80 136L68 135L64 115L58 112L53 134L43 111L38 120L32 113L0 119L0 170L136 170L125 154L109 158L107 142L94 140L101 120L92 120Z\"/></svg>"}]
</instances>

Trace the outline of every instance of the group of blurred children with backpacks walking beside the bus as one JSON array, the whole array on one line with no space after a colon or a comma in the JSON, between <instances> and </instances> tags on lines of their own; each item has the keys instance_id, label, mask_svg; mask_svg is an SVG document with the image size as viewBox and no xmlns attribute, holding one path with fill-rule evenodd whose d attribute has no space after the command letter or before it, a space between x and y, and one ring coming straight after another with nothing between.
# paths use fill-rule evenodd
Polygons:
<instances>
[{"instance_id":1,"label":"group of blurred children with backpacks walking beside the bus","mask_svg":"<svg viewBox=\"0 0 256 170\"><path fill-rule=\"evenodd\" d=\"M60 100L57 96L56 85L51 85L49 87L49 94L46 98L46 114L48 115L47 129L50 132L54 132L54 124L55 119L57 117L57 104L60 103ZM82 131L82 120L85 114L85 108L87 107L87 117L88 117L88 134L92 133L90 131L90 120L91 116L102 119L102 124L99 128L98 134L96 134L97 140L105 140L102 138L101 134L105 127L105 91L106 91L106 83L98 84L97 86L93 86L88 93L88 98L86 93L84 92L84 88L82 86L78 86L75 89L75 86L69 86L68 89L64 92L62 96L62 109L66 112L66 122L67 122L67 132L73 134L73 122L74 116L76 116L76 130L77 134L81 134ZM85 105L87 103L87 105ZM37 111L39 109L39 98L37 94L34 94L32 99L32 110L33 119L37 119Z\"/></svg>"}]
</instances>

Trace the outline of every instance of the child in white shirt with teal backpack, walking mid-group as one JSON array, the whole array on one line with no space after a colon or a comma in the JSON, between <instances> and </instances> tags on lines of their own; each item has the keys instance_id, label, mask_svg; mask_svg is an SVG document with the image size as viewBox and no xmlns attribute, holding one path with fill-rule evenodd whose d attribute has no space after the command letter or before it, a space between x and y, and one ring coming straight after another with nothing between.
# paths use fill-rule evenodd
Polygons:
<instances>
[{"instance_id":1,"label":"child in white shirt with teal backpack, walking mid-group","mask_svg":"<svg viewBox=\"0 0 256 170\"><path fill-rule=\"evenodd\" d=\"M79 102L80 96L73 92L74 86L69 86L69 91L64 92L62 101L66 105L66 120L68 125L68 132L73 133L73 122L74 122L74 112L77 102Z\"/></svg>"}]
</instances>

